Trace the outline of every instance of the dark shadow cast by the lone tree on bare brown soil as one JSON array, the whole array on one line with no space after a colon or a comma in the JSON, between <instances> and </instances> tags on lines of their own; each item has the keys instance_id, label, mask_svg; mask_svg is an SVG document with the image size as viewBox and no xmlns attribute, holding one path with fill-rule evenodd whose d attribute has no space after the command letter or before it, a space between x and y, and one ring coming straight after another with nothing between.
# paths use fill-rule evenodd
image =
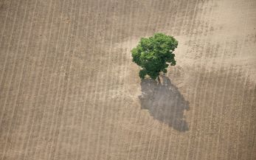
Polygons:
<instances>
[{"instance_id":1,"label":"dark shadow cast by the lone tree on bare brown soil","mask_svg":"<svg viewBox=\"0 0 256 160\"><path fill-rule=\"evenodd\" d=\"M189 102L179 92L168 77L162 76L162 83L144 79L141 82L142 95L139 96L142 109L147 109L154 119L169 125L177 131L188 131L184 110L189 110Z\"/></svg>"}]
</instances>

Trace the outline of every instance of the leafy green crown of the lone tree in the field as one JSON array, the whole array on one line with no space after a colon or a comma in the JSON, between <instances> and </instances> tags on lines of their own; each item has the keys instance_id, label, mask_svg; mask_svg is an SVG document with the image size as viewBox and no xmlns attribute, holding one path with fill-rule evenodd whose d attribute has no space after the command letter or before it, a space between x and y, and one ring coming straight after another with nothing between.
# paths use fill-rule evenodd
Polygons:
<instances>
[{"instance_id":1,"label":"leafy green crown of the lone tree in the field","mask_svg":"<svg viewBox=\"0 0 256 160\"><path fill-rule=\"evenodd\" d=\"M156 33L150 38L141 38L139 44L131 50L133 62L142 68L139 77L143 79L148 75L155 80L160 72L167 72L169 64L175 66L173 51L177 46L178 41L175 38L162 33Z\"/></svg>"}]
</instances>

